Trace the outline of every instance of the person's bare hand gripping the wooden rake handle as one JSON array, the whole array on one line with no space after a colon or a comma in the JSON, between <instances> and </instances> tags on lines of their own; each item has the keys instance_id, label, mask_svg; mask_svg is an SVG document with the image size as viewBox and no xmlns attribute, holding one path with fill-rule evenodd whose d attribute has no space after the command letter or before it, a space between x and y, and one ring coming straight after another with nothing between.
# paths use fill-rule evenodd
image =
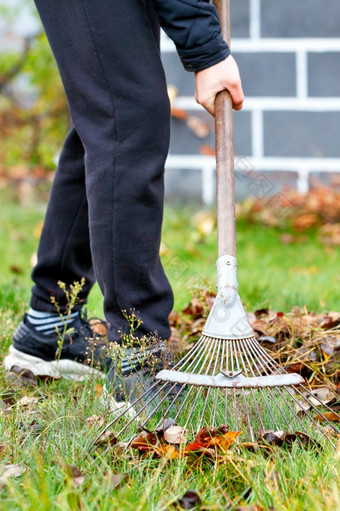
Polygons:
<instances>
[{"instance_id":1,"label":"person's bare hand gripping the wooden rake handle","mask_svg":"<svg viewBox=\"0 0 340 511\"><path fill-rule=\"evenodd\" d=\"M214 66L197 71L195 78L195 99L209 113L215 115L216 94L225 89L230 93L234 110L241 110L244 94L240 73L231 55Z\"/></svg>"}]
</instances>

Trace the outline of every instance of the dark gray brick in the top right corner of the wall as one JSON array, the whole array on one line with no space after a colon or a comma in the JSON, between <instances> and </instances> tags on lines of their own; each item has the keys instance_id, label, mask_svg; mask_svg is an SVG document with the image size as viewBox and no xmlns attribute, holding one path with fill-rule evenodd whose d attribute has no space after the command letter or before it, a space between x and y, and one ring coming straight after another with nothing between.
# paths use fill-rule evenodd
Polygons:
<instances>
[{"instance_id":1,"label":"dark gray brick in the top right corner of the wall","mask_svg":"<svg viewBox=\"0 0 340 511\"><path fill-rule=\"evenodd\" d=\"M339 0L262 0L263 37L339 37Z\"/></svg>"}]
</instances>

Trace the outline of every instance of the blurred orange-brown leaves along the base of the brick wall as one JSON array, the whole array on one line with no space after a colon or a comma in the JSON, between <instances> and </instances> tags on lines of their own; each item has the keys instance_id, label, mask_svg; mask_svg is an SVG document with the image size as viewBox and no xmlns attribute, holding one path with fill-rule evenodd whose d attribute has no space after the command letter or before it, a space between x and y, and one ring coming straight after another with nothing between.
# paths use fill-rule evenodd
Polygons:
<instances>
[{"instance_id":1,"label":"blurred orange-brown leaves along the base of the brick wall","mask_svg":"<svg viewBox=\"0 0 340 511\"><path fill-rule=\"evenodd\" d=\"M337 188L317 187L306 195L290 189L270 197L250 197L237 206L237 217L294 233L320 228L325 244L340 245L340 190Z\"/></svg>"}]
</instances>

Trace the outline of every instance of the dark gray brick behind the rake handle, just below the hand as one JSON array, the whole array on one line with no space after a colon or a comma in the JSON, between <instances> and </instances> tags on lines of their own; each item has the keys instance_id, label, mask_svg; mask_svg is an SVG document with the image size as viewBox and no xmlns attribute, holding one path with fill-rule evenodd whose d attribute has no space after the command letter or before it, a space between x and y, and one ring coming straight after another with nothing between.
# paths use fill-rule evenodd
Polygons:
<instances>
[{"instance_id":1,"label":"dark gray brick behind the rake handle, just below the hand","mask_svg":"<svg viewBox=\"0 0 340 511\"><path fill-rule=\"evenodd\" d=\"M205 111L188 112L189 115L204 119L210 128L206 138L200 138L188 128L186 121L173 118L171 123L171 154L200 154L202 145L215 147L214 119ZM234 114L235 153L249 155L251 153L251 119L249 112Z\"/></svg>"}]
</instances>

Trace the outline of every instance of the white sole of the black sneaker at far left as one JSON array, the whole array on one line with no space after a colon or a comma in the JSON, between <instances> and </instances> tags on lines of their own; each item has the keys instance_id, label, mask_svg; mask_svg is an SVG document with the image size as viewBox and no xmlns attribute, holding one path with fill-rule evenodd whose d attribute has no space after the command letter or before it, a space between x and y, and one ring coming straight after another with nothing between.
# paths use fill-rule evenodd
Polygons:
<instances>
[{"instance_id":1,"label":"white sole of the black sneaker at far left","mask_svg":"<svg viewBox=\"0 0 340 511\"><path fill-rule=\"evenodd\" d=\"M80 362L64 358L49 362L23 353L15 349L14 346L10 346L9 353L4 359L4 366L7 371L11 371L13 366L18 366L32 371L35 376L51 376L52 378L65 378L66 380L83 381L90 375L105 377L102 372Z\"/></svg>"}]
</instances>

